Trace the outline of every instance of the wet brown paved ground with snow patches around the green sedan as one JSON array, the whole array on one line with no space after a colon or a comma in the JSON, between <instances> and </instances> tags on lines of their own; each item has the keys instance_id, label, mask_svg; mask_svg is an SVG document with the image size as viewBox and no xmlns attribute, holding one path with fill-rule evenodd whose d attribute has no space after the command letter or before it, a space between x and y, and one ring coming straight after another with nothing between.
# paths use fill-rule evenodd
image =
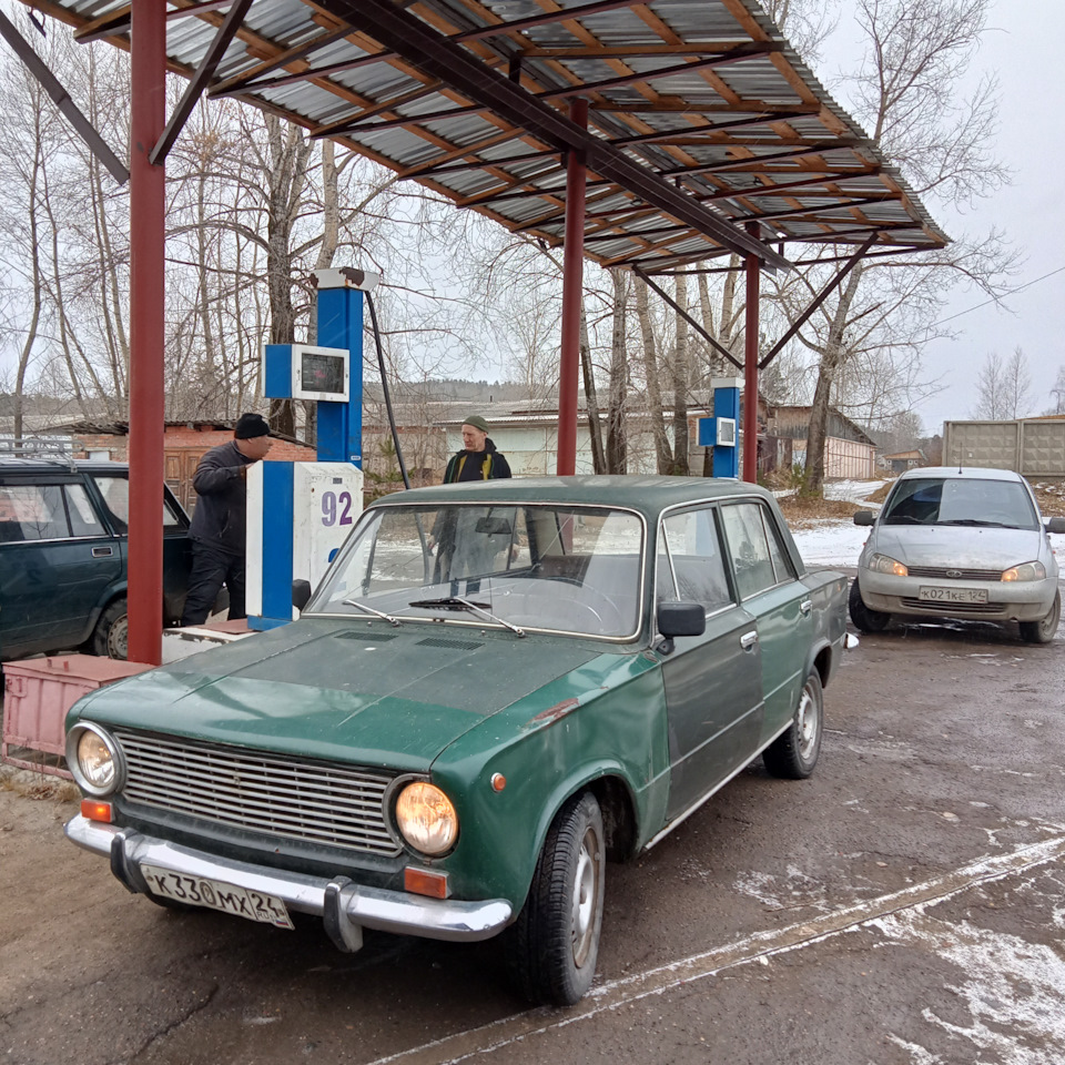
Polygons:
<instances>
[{"instance_id":1,"label":"wet brown paved ground with snow patches around the green sedan","mask_svg":"<svg viewBox=\"0 0 1065 1065\"><path fill-rule=\"evenodd\" d=\"M1065 631L864 637L816 774L752 765L608 871L600 977L526 1011L493 943L295 932L128 895L0 791L0 1062L1065 1062Z\"/></svg>"}]
</instances>

